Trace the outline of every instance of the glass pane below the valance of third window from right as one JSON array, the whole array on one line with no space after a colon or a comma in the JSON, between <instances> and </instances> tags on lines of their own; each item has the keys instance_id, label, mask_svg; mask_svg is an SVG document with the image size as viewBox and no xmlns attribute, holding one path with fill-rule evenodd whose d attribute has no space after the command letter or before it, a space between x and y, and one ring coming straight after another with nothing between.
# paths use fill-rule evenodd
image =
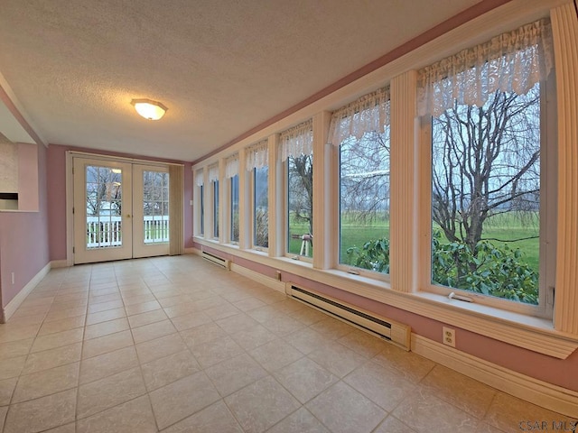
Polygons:
<instances>
[{"instance_id":1,"label":"glass pane below the valance of third window from right","mask_svg":"<svg viewBox=\"0 0 578 433\"><path fill-rule=\"evenodd\" d=\"M312 257L312 155L287 158L287 253Z\"/></svg>"}]
</instances>

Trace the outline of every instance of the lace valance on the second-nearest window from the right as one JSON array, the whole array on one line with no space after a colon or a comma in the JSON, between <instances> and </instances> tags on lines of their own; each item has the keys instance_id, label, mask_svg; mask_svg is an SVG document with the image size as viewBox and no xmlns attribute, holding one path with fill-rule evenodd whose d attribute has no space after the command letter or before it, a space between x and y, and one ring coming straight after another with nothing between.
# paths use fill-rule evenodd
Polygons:
<instances>
[{"instance_id":1,"label":"lace valance on the second-nearest window from the right","mask_svg":"<svg viewBox=\"0 0 578 433\"><path fill-rule=\"evenodd\" d=\"M389 87L359 97L331 115L329 143L339 146L349 137L361 138L371 131L383 133L389 124Z\"/></svg>"}]
</instances>

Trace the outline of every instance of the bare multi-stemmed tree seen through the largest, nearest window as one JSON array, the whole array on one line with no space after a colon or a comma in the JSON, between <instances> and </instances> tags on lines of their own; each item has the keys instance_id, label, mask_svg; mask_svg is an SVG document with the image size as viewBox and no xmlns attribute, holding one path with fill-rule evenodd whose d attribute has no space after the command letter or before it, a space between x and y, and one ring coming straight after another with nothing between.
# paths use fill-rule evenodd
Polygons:
<instances>
[{"instance_id":1,"label":"bare multi-stemmed tree seen through the largest, nearest window","mask_svg":"<svg viewBox=\"0 0 578 433\"><path fill-rule=\"evenodd\" d=\"M454 106L433 119L432 217L450 242L475 252L490 218L536 214L539 120L537 86L525 96L496 92L484 106Z\"/></svg>"}]
</instances>

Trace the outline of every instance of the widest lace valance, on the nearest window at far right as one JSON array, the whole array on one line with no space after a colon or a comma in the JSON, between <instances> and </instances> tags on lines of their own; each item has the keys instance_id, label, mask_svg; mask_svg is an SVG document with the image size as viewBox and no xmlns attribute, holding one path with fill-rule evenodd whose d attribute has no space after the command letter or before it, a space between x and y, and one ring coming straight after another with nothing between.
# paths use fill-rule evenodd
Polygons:
<instances>
[{"instance_id":1,"label":"widest lace valance, on the nearest window at far right","mask_svg":"<svg viewBox=\"0 0 578 433\"><path fill-rule=\"evenodd\" d=\"M441 115L458 104L483 106L497 90L526 94L554 65L549 20L529 23L421 69L418 115Z\"/></svg>"}]
</instances>

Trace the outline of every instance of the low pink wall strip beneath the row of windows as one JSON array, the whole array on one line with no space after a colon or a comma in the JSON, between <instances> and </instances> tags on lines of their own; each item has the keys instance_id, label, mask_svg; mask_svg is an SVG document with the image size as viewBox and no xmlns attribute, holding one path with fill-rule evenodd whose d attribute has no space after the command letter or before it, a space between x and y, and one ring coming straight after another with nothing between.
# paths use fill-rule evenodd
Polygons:
<instances>
[{"instance_id":1,"label":"low pink wall strip beneath the row of windows","mask_svg":"<svg viewBox=\"0 0 578 433\"><path fill-rule=\"evenodd\" d=\"M231 260L239 266L246 267L252 271L259 272L271 278L276 278L275 268L271 268L261 263L251 262L230 253L222 253L208 246L195 243L199 250L214 253ZM321 292L335 299L348 302L361 309L372 311L380 316L391 318L400 323L405 323L412 327L412 332L418 336L424 336L439 343L442 342L442 322L426 318L415 313L396 309L381 302L363 298L344 290L311 281L290 272L282 272L283 281L292 281L306 289ZM461 352L484 359L493 364L501 365L517 373L526 374L544 382L554 383L563 388L578 392L578 351L566 359L557 359L548 355L537 354L527 349L508 345L501 341L480 336L465 329L451 326L455 329L456 348Z\"/></svg>"}]
</instances>

